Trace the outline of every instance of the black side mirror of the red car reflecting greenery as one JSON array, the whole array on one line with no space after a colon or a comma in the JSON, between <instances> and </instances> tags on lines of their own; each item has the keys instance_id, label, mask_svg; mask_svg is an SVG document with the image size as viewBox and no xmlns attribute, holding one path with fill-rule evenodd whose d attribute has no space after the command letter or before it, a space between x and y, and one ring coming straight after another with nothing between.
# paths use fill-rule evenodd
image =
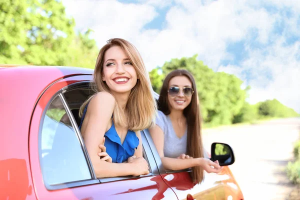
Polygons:
<instances>
[{"instance_id":1,"label":"black side mirror of the red car reflecting greenery","mask_svg":"<svg viewBox=\"0 0 300 200\"><path fill-rule=\"evenodd\" d=\"M210 160L218 160L220 166L230 165L234 162L233 150L228 144L213 142L210 154Z\"/></svg>"}]
</instances>

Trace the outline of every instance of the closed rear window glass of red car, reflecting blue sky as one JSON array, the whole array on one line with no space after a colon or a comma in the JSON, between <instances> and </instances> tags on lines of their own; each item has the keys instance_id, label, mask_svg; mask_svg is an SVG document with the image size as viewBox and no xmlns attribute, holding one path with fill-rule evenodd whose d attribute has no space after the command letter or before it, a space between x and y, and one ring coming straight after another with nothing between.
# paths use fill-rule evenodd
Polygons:
<instances>
[{"instance_id":1,"label":"closed rear window glass of red car, reflecting blue sky","mask_svg":"<svg viewBox=\"0 0 300 200\"><path fill-rule=\"evenodd\" d=\"M39 154L46 184L91 178L80 142L60 95L51 101L43 118Z\"/></svg>"}]
</instances>

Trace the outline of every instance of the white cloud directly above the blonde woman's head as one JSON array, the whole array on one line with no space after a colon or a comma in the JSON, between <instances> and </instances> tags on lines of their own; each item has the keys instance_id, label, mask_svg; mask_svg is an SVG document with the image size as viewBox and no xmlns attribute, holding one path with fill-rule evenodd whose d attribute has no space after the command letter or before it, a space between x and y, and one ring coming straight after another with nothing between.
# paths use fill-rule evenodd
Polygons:
<instances>
[{"instance_id":1,"label":"white cloud directly above the blonde woman's head","mask_svg":"<svg viewBox=\"0 0 300 200\"><path fill-rule=\"evenodd\" d=\"M144 4L123 4L116 0L63 0L66 12L79 29L91 28L99 46L113 37L136 40L142 27L156 15L155 8Z\"/></svg>"}]
</instances>

